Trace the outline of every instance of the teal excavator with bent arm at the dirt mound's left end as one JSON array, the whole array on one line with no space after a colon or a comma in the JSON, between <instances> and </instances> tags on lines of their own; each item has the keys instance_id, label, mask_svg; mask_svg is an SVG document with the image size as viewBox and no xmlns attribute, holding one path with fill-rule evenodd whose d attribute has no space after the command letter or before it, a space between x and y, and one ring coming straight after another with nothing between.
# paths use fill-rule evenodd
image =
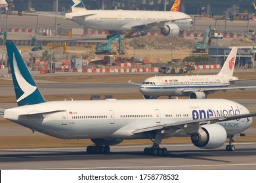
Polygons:
<instances>
[{"instance_id":1,"label":"teal excavator with bent arm at the dirt mound's left end","mask_svg":"<svg viewBox=\"0 0 256 183\"><path fill-rule=\"evenodd\" d=\"M110 38L105 45L96 46L95 54L98 54L98 55L102 55L102 54L116 55L116 52L113 51L112 46L111 46L113 41L118 41L118 50L117 50L117 52L121 55L125 54L125 52L123 52L123 48L122 48L122 37L121 37L121 35L117 35L115 37Z\"/></svg>"}]
</instances>

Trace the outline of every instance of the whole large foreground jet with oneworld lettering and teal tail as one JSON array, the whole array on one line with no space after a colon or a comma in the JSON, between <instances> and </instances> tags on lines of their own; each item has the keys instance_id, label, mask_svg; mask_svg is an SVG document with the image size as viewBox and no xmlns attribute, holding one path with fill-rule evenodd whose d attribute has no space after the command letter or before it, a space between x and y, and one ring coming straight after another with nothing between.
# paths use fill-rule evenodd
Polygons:
<instances>
[{"instance_id":1,"label":"whole large foreground jet with oneworld lettering and teal tail","mask_svg":"<svg viewBox=\"0 0 256 183\"><path fill-rule=\"evenodd\" d=\"M154 139L144 154L162 156L161 140L182 130L205 149L223 146L228 137L226 150L233 151L234 135L256 116L224 99L45 101L14 42L6 45L18 107L0 110L3 118L60 139L91 139L88 153L109 153L124 139Z\"/></svg>"}]
</instances>

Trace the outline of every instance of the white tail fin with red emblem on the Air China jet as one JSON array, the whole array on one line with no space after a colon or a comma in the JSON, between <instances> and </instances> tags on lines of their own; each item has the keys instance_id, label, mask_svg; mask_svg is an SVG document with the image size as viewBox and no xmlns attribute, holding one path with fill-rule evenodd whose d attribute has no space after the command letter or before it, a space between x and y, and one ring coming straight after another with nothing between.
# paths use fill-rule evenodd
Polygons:
<instances>
[{"instance_id":1,"label":"white tail fin with red emblem on the Air China jet","mask_svg":"<svg viewBox=\"0 0 256 183\"><path fill-rule=\"evenodd\" d=\"M223 68L221 69L218 75L233 76L237 52L238 48L233 47L228 55L228 58L226 58Z\"/></svg>"}]
</instances>

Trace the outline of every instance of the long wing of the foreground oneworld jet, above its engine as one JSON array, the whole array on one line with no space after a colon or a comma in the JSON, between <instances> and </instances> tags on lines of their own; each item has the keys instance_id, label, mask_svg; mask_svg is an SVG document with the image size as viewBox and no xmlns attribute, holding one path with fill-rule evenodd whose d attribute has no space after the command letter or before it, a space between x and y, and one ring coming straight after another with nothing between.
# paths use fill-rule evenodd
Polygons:
<instances>
[{"instance_id":1,"label":"long wing of the foreground oneworld jet, above its engine","mask_svg":"<svg viewBox=\"0 0 256 183\"><path fill-rule=\"evenodd\" d=\"M156 124L156 125L150 125L148 127L144 127L141 129L136 129L133 131L133 134L136 133L143 133L148 131L154 131L158 129L170 129L171 127L178 127L178 128L185 128L188 125L203 125L203 124L215 124L217 122L225 122L229 120L237 120L241 118L249 118L252 116L256 116L256 112L248 113L248 114L238 114L234 116L220 116L220 117L214 117L214 118L203 118L199 120L186 120L181 122L175 122L175 123L168 123L168 124Z\"/></svg>"}]
</instances>

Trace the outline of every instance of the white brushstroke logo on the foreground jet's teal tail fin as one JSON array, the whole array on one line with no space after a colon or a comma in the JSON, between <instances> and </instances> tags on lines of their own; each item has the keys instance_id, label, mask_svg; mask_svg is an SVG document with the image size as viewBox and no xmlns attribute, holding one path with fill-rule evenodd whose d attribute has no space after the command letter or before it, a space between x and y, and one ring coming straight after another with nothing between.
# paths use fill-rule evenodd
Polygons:
<instances>
[{"instance_id":1,"label":"white brushstroke logo on the foreground jet's teal tail fin","mask_svg":"<svg viewBox=\"0 0 256 183\"><path fill-rule=\"evenodd\" d=\"M31 95L33 92L35 92L37 87L29 84L25 80L25 78L22 76L22 74L20 73L20 69L18 68L18 64L17 64L14 53L13 53L13 68L14 68L14 75L18 82L18 86L20 86L20 90L24 92L23 95L21 95L20 98L17 99L17 102L19 102L22 99L25 99L26 97L28 97L28 95Z\"/></svg>"}]
</instances>

